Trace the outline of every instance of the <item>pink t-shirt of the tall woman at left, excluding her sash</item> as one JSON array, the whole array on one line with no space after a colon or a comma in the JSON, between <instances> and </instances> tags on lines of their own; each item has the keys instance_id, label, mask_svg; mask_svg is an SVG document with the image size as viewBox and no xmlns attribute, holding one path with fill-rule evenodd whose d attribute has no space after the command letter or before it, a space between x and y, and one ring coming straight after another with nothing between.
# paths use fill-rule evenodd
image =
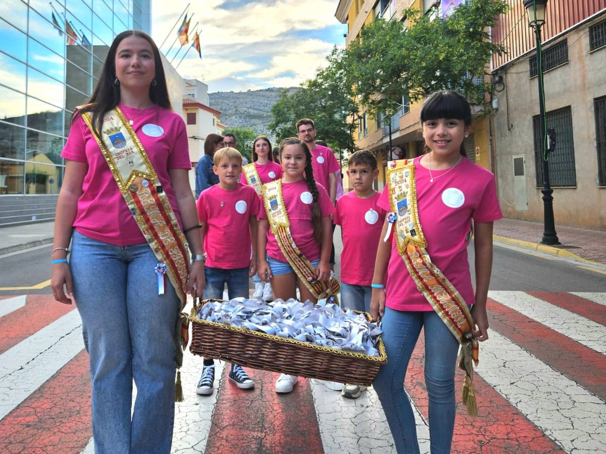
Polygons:
<instances>
[{"instance_id":1,"label":"pink t-shirt of the tall woman at left, excluding her sash","mask_svg":"<svg viewBox=\"0 0 606 454\"><path fill-rule=\"evenodd\" d=\"M157 105L145 110L122 105L120 107L128 119L134 120L133 129L141 140L181 225L168 170L191 169L183 119L179 114ZM148 123L159 125L164 130L162 135L151 137L145 134L142 127ZM128 209L95 137L81 116L76 118L70 128L61 157L88 165L73 223L76 230L94 240L117 246L145 243L145 237Z\"/></svg>"}]
</instances>

